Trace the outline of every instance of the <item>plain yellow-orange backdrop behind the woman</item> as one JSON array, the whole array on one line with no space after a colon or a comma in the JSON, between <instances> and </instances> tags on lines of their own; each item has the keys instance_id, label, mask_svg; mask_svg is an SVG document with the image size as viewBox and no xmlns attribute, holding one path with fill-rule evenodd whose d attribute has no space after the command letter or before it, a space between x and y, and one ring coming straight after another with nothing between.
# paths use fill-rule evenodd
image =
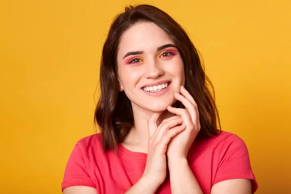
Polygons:
<instances>
[{"instance_id":1,"label":"plain yellow-orange backdrop behind the woman","mask_svg":"<svg viewBox=\"0 0 291 194\"><path fill-rule=\"evenodd\" d=\"M222 129L248 146L257 194L290 192L290 1L3 0L0 193L61 194L73 146L94 133L109 25L129 3L151 3L189 32Z\"/></svg>"}]
</instances>

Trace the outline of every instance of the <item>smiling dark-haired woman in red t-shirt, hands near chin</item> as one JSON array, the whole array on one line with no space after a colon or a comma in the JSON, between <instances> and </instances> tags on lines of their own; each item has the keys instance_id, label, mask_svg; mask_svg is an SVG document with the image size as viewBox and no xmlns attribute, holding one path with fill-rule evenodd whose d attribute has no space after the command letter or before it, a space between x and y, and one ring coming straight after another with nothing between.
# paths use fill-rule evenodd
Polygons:
<instances>
[{"instance_id":1,"label":"smiling dark-haired woman in red t-shirt, hands near chin","mask_svg":"<svg viewBox=\"0 0 291 194\"><path fill-rule=\"evenodd\" d=\"M180 25L150 5L117 16L102 51L101 133L78 141L64 194L251 194L248 150L219 130L212 85Z\"/></svg>"}]
</instances>

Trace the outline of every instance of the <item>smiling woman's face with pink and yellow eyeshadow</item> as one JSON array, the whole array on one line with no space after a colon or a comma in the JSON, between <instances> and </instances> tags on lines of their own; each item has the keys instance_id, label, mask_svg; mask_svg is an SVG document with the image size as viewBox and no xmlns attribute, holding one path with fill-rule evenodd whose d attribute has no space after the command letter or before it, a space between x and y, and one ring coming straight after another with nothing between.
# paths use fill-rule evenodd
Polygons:
<instances>
[{"instance_id":1,"label":"smiling woman's face with pink and yellow eyeshadow","mask_svg":"<svg viewBox=\"0 0 291 194\"><path fill-rule=\"evenodd\" d=\"M185 84L183 60L171 37L152 22L123 33L117 52L120 91L133 109L162 112Z\"/></svg>"}]
</instances>

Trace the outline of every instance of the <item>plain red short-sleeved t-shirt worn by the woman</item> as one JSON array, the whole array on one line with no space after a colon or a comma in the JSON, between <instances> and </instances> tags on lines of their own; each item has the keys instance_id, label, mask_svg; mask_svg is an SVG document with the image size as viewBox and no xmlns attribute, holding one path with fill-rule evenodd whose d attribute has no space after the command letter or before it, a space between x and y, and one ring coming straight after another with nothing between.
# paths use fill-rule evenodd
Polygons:
<instances>
[{"instance_id":1,"label":"plain red short-sleeved t-shirt worn by the woman","mask_svg":"<svg viewBox=\"0 0 291 194\"><path fill-rule=\"evenodd\" d=\"M103 153L101 134L82 138L74 147L65 168L62 190L82 185L94 187L97 194L124 194L143 175L147 154L132 152L119 144L119 151ZM247 147L243 140L222 131L210 139L195 140L188 152L188 163L204 194L220 181L247 178L252 194L258 189ZM167 176L157 194L171 194Z\"/></svg>"}]
</instances>

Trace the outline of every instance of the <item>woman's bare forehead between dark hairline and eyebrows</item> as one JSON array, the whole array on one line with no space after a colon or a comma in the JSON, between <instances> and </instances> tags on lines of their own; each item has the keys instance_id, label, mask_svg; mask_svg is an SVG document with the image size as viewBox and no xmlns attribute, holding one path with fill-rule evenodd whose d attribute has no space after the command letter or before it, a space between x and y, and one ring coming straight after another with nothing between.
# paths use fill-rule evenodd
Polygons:
<instances>
[{"instance_id":1,"label":"woman's bare forehead between dark hairline and eyebrows","mask_svg":"<svg viewBox=\"0 0 291 194\"><path fill-rule=\"evenodd\" d=\"M117 57L129 51L151 52L172 43L170 35L153 22L138 22L124 32L120 38Z\"/></svg>"}]
</instances>

